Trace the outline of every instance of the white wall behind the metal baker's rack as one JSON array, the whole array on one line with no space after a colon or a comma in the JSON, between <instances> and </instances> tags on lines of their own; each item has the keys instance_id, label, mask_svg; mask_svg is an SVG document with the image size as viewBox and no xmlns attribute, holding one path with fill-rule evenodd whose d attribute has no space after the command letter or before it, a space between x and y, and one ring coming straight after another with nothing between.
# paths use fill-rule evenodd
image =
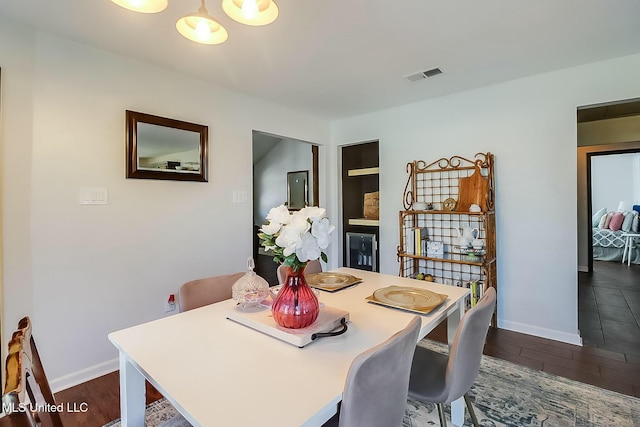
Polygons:
<instances>
[{"instance_id":1,"label":"white wall behind the metal baker's rack","mask_svg":"<svg viewBox=\"0 0 640 427\"><path fill-rule=\"evenodd\" d=\"M634 55L334 122L338 146L380 140L382 272L398 271L406 163L491 151L498 324L579 343L576 108L638 97L639 73L640 55ZM337 191L339 169L332 175Z\"/></svg>"}]
</instances>

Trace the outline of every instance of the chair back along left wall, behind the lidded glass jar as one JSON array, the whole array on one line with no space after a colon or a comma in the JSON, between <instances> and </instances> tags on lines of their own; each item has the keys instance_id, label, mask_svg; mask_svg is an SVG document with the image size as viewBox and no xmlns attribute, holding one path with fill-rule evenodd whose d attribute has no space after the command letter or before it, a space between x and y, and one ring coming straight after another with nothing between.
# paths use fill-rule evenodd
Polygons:
<instances>
[{"instance_id":1,"label":"chair back along left wall, behind the lidded glass jar","mask_svg":"<svg viewBox=\"0 0 640 427\"><path fill-rule=\"evenodd\" d=\"M180 286L180 311L193 310L231 298L231 287L245 273L191 280Z\"/></svg>"}]
</instances>

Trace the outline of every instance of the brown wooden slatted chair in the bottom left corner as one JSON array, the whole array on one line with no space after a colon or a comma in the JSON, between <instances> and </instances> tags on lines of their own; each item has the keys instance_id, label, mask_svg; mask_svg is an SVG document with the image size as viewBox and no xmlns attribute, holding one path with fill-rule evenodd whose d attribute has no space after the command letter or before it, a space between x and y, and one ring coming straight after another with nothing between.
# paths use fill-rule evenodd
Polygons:
<instances>
[{"instance_id":1,"label":"brown wooden slatted chair in the bottom left corner","mask_svg":"<svg viewBox=\"0 0 640 427\"><path fill-rule=\"evenodd\" d=\"M60 414L46 410L55 407L56 401L31 334L29 317L18 322L18 330L9 341L5 369L2 408L7 412L12 412L9 408L17 410L9 415L13 418L10 425L62 427Z\"/></svg>"}]
</instances>

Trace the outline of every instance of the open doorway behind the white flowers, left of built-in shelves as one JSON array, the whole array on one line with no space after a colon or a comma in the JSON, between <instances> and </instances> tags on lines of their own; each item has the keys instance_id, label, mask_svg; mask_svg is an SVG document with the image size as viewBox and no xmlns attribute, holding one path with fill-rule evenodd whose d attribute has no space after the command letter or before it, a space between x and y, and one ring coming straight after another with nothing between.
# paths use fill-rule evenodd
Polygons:
<instances>
[{"instance_id":1,"label":"open doorway behind the white flowers, left of built-in shelves","mask_svg":"<svg viewBox=\"0 0 640 427\"><path fill-rule=\"evenodd\" d=\"M299 139L253 131L253 258L255 272L277 285L278 265L260 247L258 229L271 208L290 202L292 177L308 176L301 203L319 205L318 146ZM297 198L296 198L297 199ZM296 202L297 203L297 202Z\"/></svg>"}]
</instances>

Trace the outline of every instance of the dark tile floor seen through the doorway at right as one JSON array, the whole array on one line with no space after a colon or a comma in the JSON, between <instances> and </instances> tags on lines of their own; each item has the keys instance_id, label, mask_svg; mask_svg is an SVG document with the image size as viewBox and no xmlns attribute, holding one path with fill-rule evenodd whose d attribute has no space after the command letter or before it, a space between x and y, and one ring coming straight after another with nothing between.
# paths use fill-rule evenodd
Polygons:
<instances>
[{"instance_id":1,"label":"dark tile floor seen through the doorway at right","mask_svg":"<svg viewBox=\"0 0 640 427\"><path fill-rule=\"evenodd\" d=\"M640 265L594 261L578 273L578 327L583 344L640 359Z\"/></svg>"}]
</instances>

